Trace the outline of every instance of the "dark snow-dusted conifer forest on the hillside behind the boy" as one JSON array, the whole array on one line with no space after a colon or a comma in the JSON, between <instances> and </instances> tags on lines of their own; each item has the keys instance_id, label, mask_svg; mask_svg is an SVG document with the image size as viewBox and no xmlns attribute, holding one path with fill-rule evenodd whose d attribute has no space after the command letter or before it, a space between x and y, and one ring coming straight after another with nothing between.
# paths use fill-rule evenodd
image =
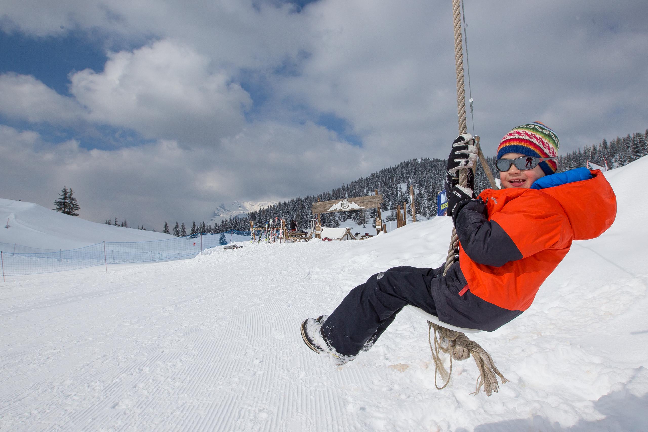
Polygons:
<instances>
[{"instance_id":1,"label":"dark snow-dusted conifer forest on the hillside behind the boy","mask_svg":"<svg viewBox=\"0 0 648 432\"><path fill-rule=\"evenodd\" d=\"M645 133L628 134L626 137L617 137L609 142L603 139L599 144L584 146L583 150L579 148L572 153L560 155L558 161L559 171L585 166L587 161L596 163L597 165L605 165L607 163L609 168L618 168L619 166L627 165L648 154L647 138L648 129ZM495 157L487 157L487 162L496 176ZM283 203L277 203L270 207L249 212L248 216L237 216L235 218L229 218L229 220L223 220L220 224L217 223L213 227L201 222L194 229L202 233L223 233L231 229L248 231L250 221L259 227L274 218L284 218L286 221L295 219L299 227L305 229L310 227L310 220L313 218L313 215L310 213L311 205L317 202L318 199L320 201L330 201L332 199L366 196L373 194L374 190L377 189L378 194L382 194L384 198L382 210L393 210L397 205L402 205L406 201L409 202L409 195L406 191L409 190L410 185L413 185L415 190L414 199L417 216L431 218L437 214L437 194L443 189L445 167L446 159L411 159L410 161L399 163L399 165L383 168L370 176L360 177L360 179L351 181L348 185L342 185L330 192L307 195L303 198L293 198L289 201L283 201ZM481 190L488 187L490 187L488 179L480 165L478 166L475 177L476 193L479 194ZM408 205L409 211L411 210ZM385 216L388 220L393 217L389 212L386 215L384 214ZM364 223L374 223L375 217L376 210L367 209L351 212L325 213L321 215L321 220L323 225L327 227L339 227L340 222L347 219L352 219L358 225L362 225ZM175 229L174 234L176 234ZM181 234L181 232L178 232L178 234Z\"/></svg>"}]
</instances>

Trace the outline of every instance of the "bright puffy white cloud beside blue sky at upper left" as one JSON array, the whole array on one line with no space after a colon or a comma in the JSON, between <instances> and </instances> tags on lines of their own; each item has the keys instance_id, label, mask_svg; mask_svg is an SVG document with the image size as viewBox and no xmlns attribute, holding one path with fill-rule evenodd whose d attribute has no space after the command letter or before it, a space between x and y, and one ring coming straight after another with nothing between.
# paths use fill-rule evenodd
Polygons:
<instances>
[{"instance_id":1,"label":"bright puffy white cloud beside blue sky at upper left","mask_svg":"<svg viewBox=\"0 0 648 432\"><path fill-rule=\"evenodd\" d=\"M108 57L104 71L71 76L89 120L189 145L217 143L245 122L248 93L191 47L163 40Z\"/></svg>"}]
</instances>

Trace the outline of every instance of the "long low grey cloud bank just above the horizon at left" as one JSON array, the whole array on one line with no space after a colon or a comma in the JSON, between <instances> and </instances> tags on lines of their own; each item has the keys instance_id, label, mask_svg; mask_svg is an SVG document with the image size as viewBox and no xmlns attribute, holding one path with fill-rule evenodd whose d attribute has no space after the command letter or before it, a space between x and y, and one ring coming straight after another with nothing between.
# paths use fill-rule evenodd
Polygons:
<instances>
[{"instance_id":1,"label":"long low grey cloud bank just above the horizon at left","mask_svg":"<svg viewBox=\"0 0 648 432\"><path fill-rule=\"evenodd\" d=\"M159 229L164 220L207 221L222 201L328 190L364 169L359 148L314 124L253 124L224 140L218 152L168 140L87 150L74 140L54 144L34 131L0 125L3 198L50 207L67 185L81 216L95 222L117 216Z\"/></svg>"}]
</instances>

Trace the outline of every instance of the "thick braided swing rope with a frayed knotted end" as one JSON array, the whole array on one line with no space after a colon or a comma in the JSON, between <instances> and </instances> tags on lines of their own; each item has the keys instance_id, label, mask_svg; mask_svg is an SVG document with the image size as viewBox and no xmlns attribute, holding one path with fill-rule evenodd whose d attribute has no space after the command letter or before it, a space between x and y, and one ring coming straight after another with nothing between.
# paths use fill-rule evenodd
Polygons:
<instances>
[{"instance_id":1,"label":"thick braided swing rope with a frayed knotted end","mask_svg":"<svg viewBox=\"0 0 648 432\"><path fill-rule=\"evenodd\" d=\"M454 59L457 69L457 115L459 117L459 135L463 135L466 133L466 99L463 83L463 49L459 0L452 0L452 14L454 19ZM459 170L459 185L463 187L466 187L468 184L467 169L470 168ZM459 237L457 236L456 229L453 227L452 236L450 237L450 247L446 256L446 264L443 269L444 276L456 260L455 251L457 249L459 249ZM432 328L434 328L434 347L432 347ZM502 384L508 382L495 366L491 355L481 348L478 343L471 341L467 335L461 332L449 330L428 321L428 343L430 344L430 351L432 351L432 359L434 359L434 385L439 390L444 389L450 382L452 359L461 361L469 358L471 355L475 360L477 368L480 370L480 377L477 380L476 389L473 394L478 393L481 387L484 388L487 396L491 396L492 392L498 392L500 385L498 384L497 376L502 380ZM439 358L440 350L450 354L449 371L445 369L443 361ZM441 387L437 384L437 372L445 380L445 383Z\"/></svg>"}]
</instances>

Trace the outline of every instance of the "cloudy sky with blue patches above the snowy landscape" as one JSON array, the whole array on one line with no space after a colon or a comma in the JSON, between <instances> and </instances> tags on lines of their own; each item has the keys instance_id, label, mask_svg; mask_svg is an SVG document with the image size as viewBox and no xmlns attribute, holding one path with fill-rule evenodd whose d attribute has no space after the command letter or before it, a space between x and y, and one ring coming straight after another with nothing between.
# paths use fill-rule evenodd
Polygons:
<instances>
[{"instance_id":1,"label":"cloudy sky with blue patches above the snowy landscape","mask_svg":"<svg viewBox=\"0 0 648 432\"><path fill-rule=\"evenodd\" d=\"M486 153L540 120L561 153L648 128L648 2L465 0ZM5 0L0 198L209 220L457 135L452 1ZM472 126L469 124L469 131Z\"/></svg>"}]
</instances>

